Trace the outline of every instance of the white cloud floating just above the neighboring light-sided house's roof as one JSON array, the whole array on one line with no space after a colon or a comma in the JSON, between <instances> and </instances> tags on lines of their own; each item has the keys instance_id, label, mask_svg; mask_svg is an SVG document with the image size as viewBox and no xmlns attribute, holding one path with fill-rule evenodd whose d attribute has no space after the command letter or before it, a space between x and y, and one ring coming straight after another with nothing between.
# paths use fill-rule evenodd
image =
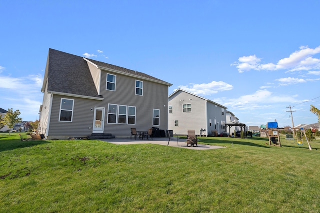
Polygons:
<instances>
[{"instance_id":1,"label":"white cloud floating just above the neighboring light-sided house's roof","mask_svg":"<svg viewBox=\"0 0 320 213\"><path fill-rule=\"evenodd\" d=\"M189 91L197 95L212 95L217 92L231 90L233 86L223 81L212 81L210 83L191 84L189 86L180 85L178 86L178 88L181 88L183 90Z\"/></svg>"}]
</instances>

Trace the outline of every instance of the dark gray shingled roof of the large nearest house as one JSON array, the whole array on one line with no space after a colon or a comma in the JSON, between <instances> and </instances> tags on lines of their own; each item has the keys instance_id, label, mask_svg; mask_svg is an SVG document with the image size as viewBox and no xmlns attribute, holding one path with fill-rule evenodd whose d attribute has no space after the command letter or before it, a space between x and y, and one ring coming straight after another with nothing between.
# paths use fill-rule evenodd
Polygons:
<instances>
[{"instance_id":1,"label":"dark gray shingled roof of the large nearest house","mask_svg":"<svg viewBox=\"0 0 320 213\"><path fill-rule=\"evenodd\" d=\"M112 64L92 60L86 60L95 64L100 69L110 69L112 71L135 75L137 78L149 79L158 83L170 86L170 83L154 78L142 72L136 72ZM62 51L49 49L47 67L44 74L44 82L41 91L44 91L45 80L47 82L48 92L69 93L94 98L102 98L98 95L87 61L81 56L72 55Z\"/></svg>"}]
</instances>

